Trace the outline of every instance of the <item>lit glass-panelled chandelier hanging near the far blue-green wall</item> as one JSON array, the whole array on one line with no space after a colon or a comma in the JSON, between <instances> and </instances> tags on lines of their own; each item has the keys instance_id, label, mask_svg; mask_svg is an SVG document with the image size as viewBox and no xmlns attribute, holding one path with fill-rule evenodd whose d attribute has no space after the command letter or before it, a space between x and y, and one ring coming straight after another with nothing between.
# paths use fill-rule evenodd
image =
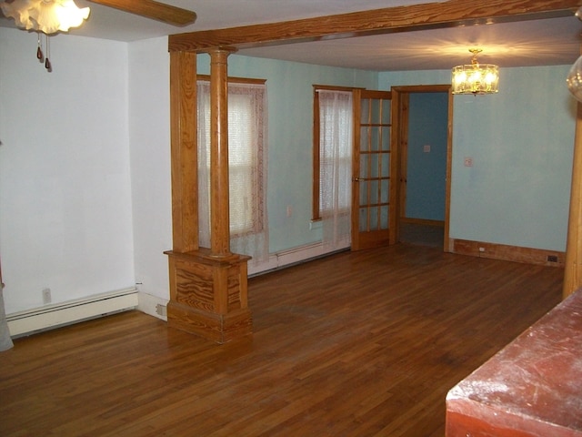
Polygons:
<instances>
[{"instance_id":1,"label":"lit glass-panelled chandelier hanging near the far blue-green wall","mask_svg":"<svg viewBox=\"0 0 582 437\"><path fill-rule=\"evenodd\" d=\"M498 91L499 67L493 64L479 64L479 48L471 48L471 64L455 66L452 71L453 94L494 94Z\"/></svg>"}]
</instances>

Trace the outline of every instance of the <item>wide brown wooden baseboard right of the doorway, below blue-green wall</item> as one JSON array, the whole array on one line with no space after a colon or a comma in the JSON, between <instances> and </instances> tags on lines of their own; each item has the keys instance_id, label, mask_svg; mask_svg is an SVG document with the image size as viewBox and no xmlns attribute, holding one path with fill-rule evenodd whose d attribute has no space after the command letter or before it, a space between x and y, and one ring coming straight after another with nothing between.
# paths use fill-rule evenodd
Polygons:
<instances>
[{"instance_id":1,"label":"wide brown wooden baseboard right of the doorway, below blue-green wall","mask_svg":"<svg viewBox=\"0 0 582 437\"><path fill-rule=\"evenodd\" d=\"M452 252L459 255L487 259L537 264L541 266L564 267L566 253L557 250L521 248L505 244L486 243L467 239L451 239Z\"/></svg>"}]
</instances>

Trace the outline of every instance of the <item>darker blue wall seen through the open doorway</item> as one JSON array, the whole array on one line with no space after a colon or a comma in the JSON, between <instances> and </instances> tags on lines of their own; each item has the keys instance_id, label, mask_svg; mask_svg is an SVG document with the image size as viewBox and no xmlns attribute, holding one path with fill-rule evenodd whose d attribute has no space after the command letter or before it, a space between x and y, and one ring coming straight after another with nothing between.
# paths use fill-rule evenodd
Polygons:
<instances>
[{"instance_id":1,"label":"darker blue wall seen through the open doorway","mask_svg":"<svg viewBox=\"0 0 582 437\"><path fill-rule=\"evenodd\" d=\"M408 219L445 219L447 111L448 93L410 94L405 215Z\"/></svg>"}]
</instances>

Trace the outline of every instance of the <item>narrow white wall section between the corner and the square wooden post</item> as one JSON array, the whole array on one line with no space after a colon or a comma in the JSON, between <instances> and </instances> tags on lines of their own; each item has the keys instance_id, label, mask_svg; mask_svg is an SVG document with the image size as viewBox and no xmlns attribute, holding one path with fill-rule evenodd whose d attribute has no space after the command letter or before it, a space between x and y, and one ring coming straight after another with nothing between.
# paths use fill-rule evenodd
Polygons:
<instances>
[{"instance_id":1,"label":"narrow white wall section between the corner and the square wooden post","mask_svg":"<svg viewBox=\"0 0 582 437\"><path fill-rule=\"evenodd\" d=\"M129 45L135 280L162 300L169 299L164 251L172 249L169 64L166 37Z\"/></svg>"}]
</instances>

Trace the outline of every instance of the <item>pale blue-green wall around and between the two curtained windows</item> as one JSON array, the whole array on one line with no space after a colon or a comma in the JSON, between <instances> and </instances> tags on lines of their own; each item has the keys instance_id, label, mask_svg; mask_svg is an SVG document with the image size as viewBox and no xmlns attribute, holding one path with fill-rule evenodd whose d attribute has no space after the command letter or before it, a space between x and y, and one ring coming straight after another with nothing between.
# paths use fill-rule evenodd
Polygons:
<instances>
[{"instance_id":1,"label":"pale blue-green wall around and between the two curtained windows","mask_svg":"<svg viewBox=\"0 0 582 437\"><path fill-rule=\"evenodd\" d=\"M210 56L197 57L199 74L209 74ZM377 89L373 71L314 66L249 56L228 56L228 75L266 79L268 100L268 198L271 253L321 240L311 229L313 86ZM287 217L286 208L293 213Z\"/></svg>"}]
</instances>

